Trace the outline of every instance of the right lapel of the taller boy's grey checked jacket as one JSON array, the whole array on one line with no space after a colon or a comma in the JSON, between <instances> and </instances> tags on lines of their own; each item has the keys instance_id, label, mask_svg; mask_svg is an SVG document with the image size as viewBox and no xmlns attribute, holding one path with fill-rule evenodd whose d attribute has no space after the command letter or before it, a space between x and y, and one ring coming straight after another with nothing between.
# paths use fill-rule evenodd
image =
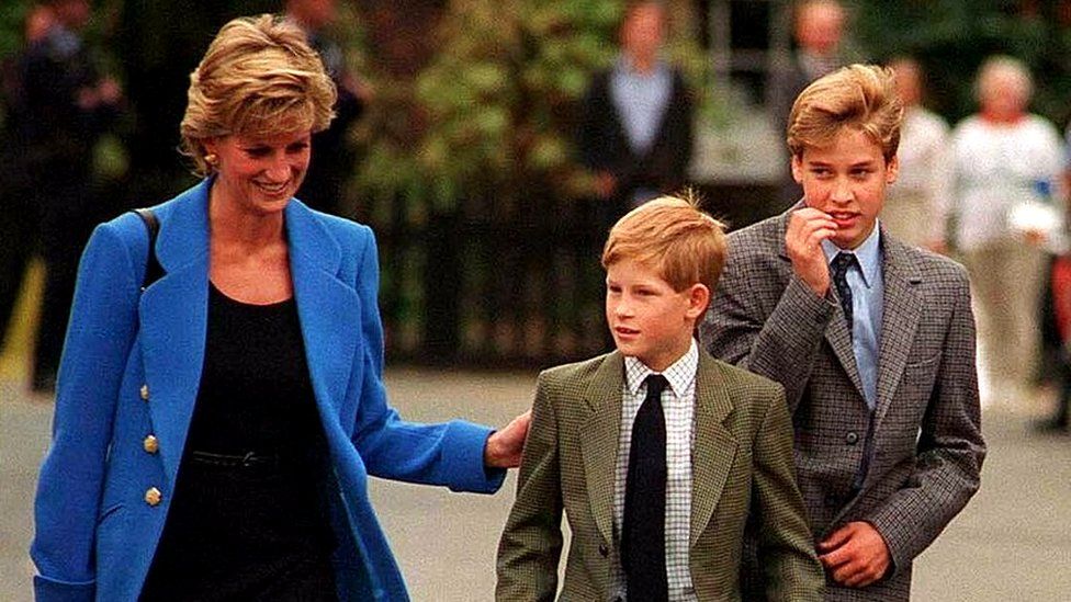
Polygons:
<instances>
[{"instance_id":1,"label":"right lapel of the taller boy's grey checked jacket","mask_svg":"<svg viewBox=\"0 0 1071 602\"><path fill-rule=\"evenodd\" d=\"M922 276L904 246L881 232L884 240L882 271L884 297L882 299L881 342L878 350L878 402L876 424L892 402L900 385L907 356L911 353L915 328L918 326L921 302L916 286Z\"/></svg>"}]
</instances>

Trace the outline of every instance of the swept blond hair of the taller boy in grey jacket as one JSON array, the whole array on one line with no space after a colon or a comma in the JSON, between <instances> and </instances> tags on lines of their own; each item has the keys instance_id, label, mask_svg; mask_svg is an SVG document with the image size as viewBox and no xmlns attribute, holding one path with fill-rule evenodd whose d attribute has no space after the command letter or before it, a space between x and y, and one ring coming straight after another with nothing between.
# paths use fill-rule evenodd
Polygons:
<instances>
[{"instance_id":1,"label":"swept blond hair of the taller boy in grey jacket","mask_svg":"<svg viewBox=\"0 0 1071 602\"><path fill-rule=\"evenodd\" d=\"M850 128L867 134L890 161L900 146L902 122L903 103L891 69L842 67L808 86L796 99L788 120L788 148L793 157L802 158L807 147L826 147Z\"/></svg>"}]
</instances>

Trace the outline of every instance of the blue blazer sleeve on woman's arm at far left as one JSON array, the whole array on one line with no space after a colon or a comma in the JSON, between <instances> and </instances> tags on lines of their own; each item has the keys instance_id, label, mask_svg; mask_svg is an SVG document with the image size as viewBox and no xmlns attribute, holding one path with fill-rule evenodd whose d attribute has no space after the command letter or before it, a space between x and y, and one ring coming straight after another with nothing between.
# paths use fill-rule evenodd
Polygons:
<instances>
[{"instance_id":1,"label":"blue blazer sleeve on woman's arm at far left","mask_svg":"<svg viewBox=\"0 0 1071 602\"><path fill-rule=\"evenodd\" d=\"M144 260L142 260L144 263ZM82 254L41 468L31 557L38 601L92 600L94 544L115 404L136 330L138 284L113 224Z\"/></svg>"}]
</instances>

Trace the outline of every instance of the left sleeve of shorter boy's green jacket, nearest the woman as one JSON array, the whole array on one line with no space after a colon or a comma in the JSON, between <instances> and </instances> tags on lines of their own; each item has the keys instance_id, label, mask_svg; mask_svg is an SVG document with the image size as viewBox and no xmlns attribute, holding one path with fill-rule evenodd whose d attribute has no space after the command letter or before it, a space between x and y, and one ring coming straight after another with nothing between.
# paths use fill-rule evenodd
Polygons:
<instances>
[{"instance_id":1,"label":"left sleeve of shorter boy's green jacket, nearest the woman","mask_svg":"<svg viewBox=\"0 0 1071 602\"><path fill-rule=\"evenodd\" d=\"M495 599L551 601L557 592L562 554L562 486L557 419L540 375L532 423L525 442L517 498L498 543Z\"/></svg>"}]
</instances>

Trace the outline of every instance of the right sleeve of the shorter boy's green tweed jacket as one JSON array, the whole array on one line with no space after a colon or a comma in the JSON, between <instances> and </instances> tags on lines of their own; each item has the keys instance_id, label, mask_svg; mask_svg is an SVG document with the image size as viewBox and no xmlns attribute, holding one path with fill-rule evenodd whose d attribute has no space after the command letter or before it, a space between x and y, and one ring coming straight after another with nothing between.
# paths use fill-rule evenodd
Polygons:
<instances>
[{"instance_id":1,"label":"right sleeve of the shorter boy's green tweed jacket","mask_svg":"<svg viewBox=\"0 0 1071 602\"><path fill-rule=\"evenodd\" d=\"M780 387L755 435L754 509L760 516L758 560L768 600L821 602L825 575L796 485L792 422Z\"/></svg>"}]
</instances>

